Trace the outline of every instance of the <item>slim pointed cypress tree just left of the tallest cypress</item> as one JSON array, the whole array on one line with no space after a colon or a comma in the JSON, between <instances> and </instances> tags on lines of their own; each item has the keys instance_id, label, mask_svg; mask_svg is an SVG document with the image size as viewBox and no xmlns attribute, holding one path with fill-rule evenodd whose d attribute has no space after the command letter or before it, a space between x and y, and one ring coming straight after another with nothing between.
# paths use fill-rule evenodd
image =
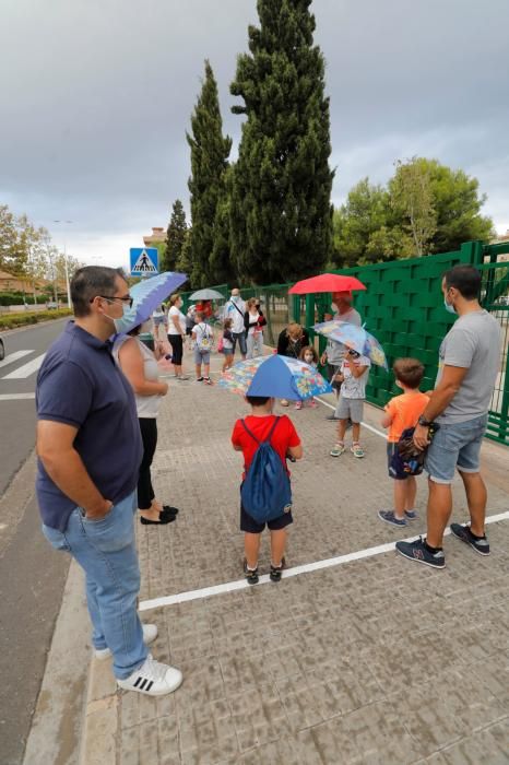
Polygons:
<instances>
[{"instance_id":1,"label":"slim pointed cypress tree just left of the tallest cypress","mask_svg":"<svg viewBox=\"0 0 509 765\"><path fill-rule=\"evenodd\" d=\"M214 249L214 224L220 200L224 196L224 175L228 167L232 139L223 137L217 84L209 61L205 79L191 116L192 134L187 133L191 148L191 251L194 286L214 281L211 256Z\"/></svg>"}]
</instances>

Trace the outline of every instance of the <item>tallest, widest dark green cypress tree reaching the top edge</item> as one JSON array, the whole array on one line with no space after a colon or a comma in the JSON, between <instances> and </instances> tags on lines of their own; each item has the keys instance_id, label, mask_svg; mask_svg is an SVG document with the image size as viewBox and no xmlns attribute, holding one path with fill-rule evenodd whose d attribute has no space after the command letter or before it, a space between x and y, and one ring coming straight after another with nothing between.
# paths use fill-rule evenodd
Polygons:
<instances>
[{"instance_id":1,"label":"tallest, widest dark green cypress tree reaching the top edge","mask_svg":"<svg viewBox=\"0 0 509 765\"><path fill-rule=\"evenodd\" d=\"M245 114L235 166L232 256L242 279L316 273L332 240L329 98L313 45L311 0L258 0L260 27L237 59L230 92Z\"/></svg>"}]
</instances>

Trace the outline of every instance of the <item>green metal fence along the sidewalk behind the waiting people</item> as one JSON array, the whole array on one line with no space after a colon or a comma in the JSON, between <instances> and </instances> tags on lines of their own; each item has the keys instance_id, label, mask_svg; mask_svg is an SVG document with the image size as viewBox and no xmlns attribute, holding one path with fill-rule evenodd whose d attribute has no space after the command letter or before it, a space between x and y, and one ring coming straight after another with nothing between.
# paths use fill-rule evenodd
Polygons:
<instances>
[{"instance_id":1,"label":"green metal fence along the sidewalk behind the waiting people","mask_svg":"<svg viewBox=\"0 0 509 765\"><path fill-rule=\"evenodd\" d=\"M336 271L357 276L365 285L365 292L355 293L355 307L366 323L383 345L389 367L400 356L415 356L425 366L423 390L435 385L438 351L443 337L451 328L454 318L443 308L440 290L443 272L457 263L469 263L483 272L482 302L487 310L500 321L502 344L500 349L500 375L489 412L488 437L509 446L509 378L506 375L509 343L509 262L500 262L500 257L509 254L509 243L505 245L483 245L467 242L453 252L441 252L398 260L372 266L363 266ZM291 284L271 284L242 289L247 299L261 297L268 327L265 342L275 345L277 336L288 321L300 321L311 327L330 310L331 295L288 295ZM215 286L227 299L226 284ZM189 295L185 293L185 308ZM311 330L311 337L312 330ZM324 339L315 338L317 350L323 350ZM367 399L370 403L383 407L398 393L392 373L374 367L369 375Z\"/></svg>"}]
</instances>

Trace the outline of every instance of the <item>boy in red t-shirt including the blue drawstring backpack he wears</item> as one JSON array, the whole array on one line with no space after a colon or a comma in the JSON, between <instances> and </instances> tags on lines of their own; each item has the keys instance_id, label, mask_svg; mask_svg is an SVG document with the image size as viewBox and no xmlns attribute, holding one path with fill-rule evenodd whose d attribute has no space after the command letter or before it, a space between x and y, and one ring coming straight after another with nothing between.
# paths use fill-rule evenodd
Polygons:
<instances>
[{"instance_id":1,"label":"boy in red t-shirt including the blue drawstring backpack he wears","mask_svg":"<svg viewBox=\"0 0 509 765\"><path fill-rule=\"evenodd\" d=\"M271 532L272 581L280 581L285 565L286 527L293 522L292 490L286 458L300 459L303 447L293 422L272 414L274 399L247 396L251 414L237 420L232 433L236 451L244 455L240 485L240 530L244 531L244 573L258 584L258 554L265 523Z\"/></svg>"}]
</instances>

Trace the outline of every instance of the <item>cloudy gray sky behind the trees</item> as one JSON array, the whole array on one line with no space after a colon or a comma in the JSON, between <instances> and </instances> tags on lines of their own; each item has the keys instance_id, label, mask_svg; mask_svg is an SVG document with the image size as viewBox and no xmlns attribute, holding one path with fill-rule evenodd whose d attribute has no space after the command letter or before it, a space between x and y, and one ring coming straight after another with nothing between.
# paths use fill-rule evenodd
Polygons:
<instances>
[{"instance_id":1,"label":"cloudy gray sky behind the trees","mask_svg":"<svg viewBox=\"0 0 509 765\"><path fill-rule=\"evenodd\" d=\"M507 0L315 0L331 98L333 202L414 154L461 167L509 228ZM127 264L176 198L209 58L229 83L256 0L1 0L0 203L86 262ZM54 220L72 223L59 226Z\"/></svg>"}]
</instances>

